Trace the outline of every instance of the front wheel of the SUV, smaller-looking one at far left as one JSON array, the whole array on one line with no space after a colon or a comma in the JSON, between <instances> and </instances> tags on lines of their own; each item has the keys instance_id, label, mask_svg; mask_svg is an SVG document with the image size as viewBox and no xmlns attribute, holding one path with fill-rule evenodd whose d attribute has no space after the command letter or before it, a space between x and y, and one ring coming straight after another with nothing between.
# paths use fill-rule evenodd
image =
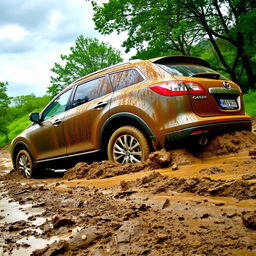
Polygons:
<instances>
[{"instance_id":1,"label":"front wheel of the SUV, smaller-looking one at far left","mask_svg":"<svg viewBox=\"0 0 256 256\"><path fill-rule=\"evenodd\" d=\"M35 176L36 167L30 154L24 149L19 151L16 157L16 169L24 178L30 179Z\"/></svg>"}]
</instances>

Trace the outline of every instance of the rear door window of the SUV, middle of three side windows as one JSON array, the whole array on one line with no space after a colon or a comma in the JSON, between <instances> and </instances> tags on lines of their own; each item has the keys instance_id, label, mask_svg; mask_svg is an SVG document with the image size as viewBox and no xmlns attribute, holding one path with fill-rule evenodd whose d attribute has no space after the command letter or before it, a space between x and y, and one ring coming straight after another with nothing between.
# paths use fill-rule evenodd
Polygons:
<instances>
[{"instance_id":1,"label":"rear door window of the SUV, middle of three side windows","mask_svg":"<svg viewBox=\"0 0 256 256\"><path fill-rule=\"evenodd\" d=\"M77 86L73 107L77 107L88 101L99 98L110 92L109 84L106 82L105 77L100 77Z\"/></svg>"}]
</instances>

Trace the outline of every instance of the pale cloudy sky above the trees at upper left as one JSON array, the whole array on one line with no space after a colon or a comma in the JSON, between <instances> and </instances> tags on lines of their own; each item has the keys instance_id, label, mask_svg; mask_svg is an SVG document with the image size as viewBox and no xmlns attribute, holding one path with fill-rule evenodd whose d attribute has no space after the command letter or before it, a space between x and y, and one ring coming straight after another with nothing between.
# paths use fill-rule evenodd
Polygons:
<instances>
[{"instance_id":1,"label":"pale cloudy sky above the trees at upper left","mask_svg":"<svg viewBox=\"0 0 256 256\"><path fill-rule=\"evenodd\" d=\"M125 35L100 35L92 17L87 0L0 0L0 82L8 82L8 95L46 94L50 69L81 34L109 43L128 60Z\"/></svg>"}]
</instances>

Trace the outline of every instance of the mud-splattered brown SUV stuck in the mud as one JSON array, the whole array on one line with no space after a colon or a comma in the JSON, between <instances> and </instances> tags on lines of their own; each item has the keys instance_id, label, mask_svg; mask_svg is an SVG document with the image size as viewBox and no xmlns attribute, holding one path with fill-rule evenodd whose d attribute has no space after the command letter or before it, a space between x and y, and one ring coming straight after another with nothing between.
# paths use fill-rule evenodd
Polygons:
<instances>
[{"instance_id":1,"label":"mud-splattered brown SUV stuck in the mud","mask_svg":"<svg viewBox=\"0 0 256 256\"><path fill-rule=\"evenodd\" d=\"M26 178L102 152L113 162L145 161L150 151L188 139L251 130L239 86L189 56L133 60L82 77L57 95L11 144Z\"/></svg>"}]
</instances>

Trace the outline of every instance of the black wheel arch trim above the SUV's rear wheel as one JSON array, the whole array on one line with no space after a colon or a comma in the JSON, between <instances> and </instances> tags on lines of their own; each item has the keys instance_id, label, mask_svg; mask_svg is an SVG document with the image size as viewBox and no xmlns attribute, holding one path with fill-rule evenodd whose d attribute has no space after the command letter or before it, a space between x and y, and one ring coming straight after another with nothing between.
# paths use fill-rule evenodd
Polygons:
<instances>
[{"instance_id":1,"label":"black wheel arch trim above the SUV's rear wheel","mask_svg":"<svg viewBox=\"0 0 256 256\"><path fill-rule=\"evenodd\" d=\"M105 121L100 131L99 147L105 149L111 134L125 125L134 126L141 130L146 135L150 147L153 148L152 141L155 140L155 136L149 126L139 116L128 112L117 113Z\"/></svg>"}]
</instances>

